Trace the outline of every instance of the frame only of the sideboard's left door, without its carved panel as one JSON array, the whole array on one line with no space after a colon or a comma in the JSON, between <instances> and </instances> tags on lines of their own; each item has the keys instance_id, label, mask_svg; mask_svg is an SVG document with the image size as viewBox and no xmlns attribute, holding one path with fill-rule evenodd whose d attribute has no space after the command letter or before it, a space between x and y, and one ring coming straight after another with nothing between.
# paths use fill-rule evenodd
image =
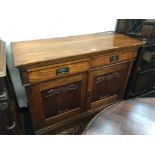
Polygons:
<instances>
[{"instance_id":1,"label":"frame only of the sideboard's left door, without its carved panel","mask_svg":"<svg viewBox=\"0 0 155 155\"><path fill-rule=\"evenodd\" d=\"M41 91L46 89L51 89L54 87L63 86L73 82L78 82L78 81L81 81L80 108L76 108L68 112L62 113L60 115L46 119L44 116L44 107L43 107L44 103L42 100ZM29 102L29 106L31 109L34 131L37 131L45 126L54 124L56 122L63 121L65 118L71 118L71 116L75 116L85 111L86 109L85 95L86 95L86 86L87 86L86 82L87 82L87 73L81 73L74 76L72 75L72 76L66 76L64 78L53 79L50 81L46 81L40 84L27 87L28 98L31 101L31 103Z\"/></svg>"}]
</instances>

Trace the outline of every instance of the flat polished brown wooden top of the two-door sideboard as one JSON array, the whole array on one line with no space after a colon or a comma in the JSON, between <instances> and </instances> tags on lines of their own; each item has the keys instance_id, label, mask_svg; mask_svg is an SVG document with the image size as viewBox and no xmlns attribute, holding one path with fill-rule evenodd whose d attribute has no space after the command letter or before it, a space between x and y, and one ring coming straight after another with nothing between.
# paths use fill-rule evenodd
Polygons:
<instances>
[{"instance_id":1,"label":"flat polished brown wooden top of the two-door sideboard","mask_svg":"<svg viewBox=\"0 0 155 155\"><path fill-rule=\"evenodd\" d=\"M142 41L115 32L40 39L11 43L15 67L30 67L58 60L84 58L112 49L138 47Z\"/></svg>"}]
</instances>

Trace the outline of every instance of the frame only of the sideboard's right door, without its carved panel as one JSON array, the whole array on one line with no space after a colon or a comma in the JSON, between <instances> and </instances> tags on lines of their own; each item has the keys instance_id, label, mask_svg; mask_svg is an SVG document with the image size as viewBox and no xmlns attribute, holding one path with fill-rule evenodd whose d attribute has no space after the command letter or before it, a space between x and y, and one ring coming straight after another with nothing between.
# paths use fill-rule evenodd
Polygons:
<instances>
[{"instance_id":1,"label":"frame only of the sideboard's right door, without its carved panel","mask_svg":"<svg viewBox=\"0 0 155 155\"><path fill-rule=\"evenodd\" d=\"M128 79L129 72L131 70L131 66L132 66L132 62L128 62L128 63L114 64L114 65L106 66L106 67L100 67L100 68L91 70L89 72L89 78L88 78L87 109L96 108L98 106L102 106L103 104L112 103L112 102L118 100L119 98L121 98L123 95L123 92L125 91L125 87L127 84L126 79ZM120 92L118 92L118 94L109 96L104 99L100 99L96 102L92 102L93 90L94 90L94 79L97 76L104 75L104 74L110 74L110 73L113 73L116 71L121 71L121 70L124 70L124 74L121 75L121 79L125 80L125 82L121 82L121 84L120 84L120 88L122 88L122 90ZM91 105L93 105L93 106L91 106Z\"/></svg>"}]
</instances>

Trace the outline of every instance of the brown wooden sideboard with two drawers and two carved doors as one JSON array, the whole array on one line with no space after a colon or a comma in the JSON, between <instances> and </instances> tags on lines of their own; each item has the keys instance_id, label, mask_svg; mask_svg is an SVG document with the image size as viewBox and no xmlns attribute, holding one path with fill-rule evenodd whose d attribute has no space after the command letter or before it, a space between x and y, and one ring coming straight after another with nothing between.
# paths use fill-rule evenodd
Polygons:
<instances>
[{"instance_id":1,"label":"brown wooden sideboard with two drawers and two carved doors","mask_svg":"<svg viewBox=\"0 0 155 155\"><path fill-rule=\"evenodd\" d=\"M35 134L62 134L122 100L141 41L114 32L12 43Z\"/></svg>"}]
</instances>

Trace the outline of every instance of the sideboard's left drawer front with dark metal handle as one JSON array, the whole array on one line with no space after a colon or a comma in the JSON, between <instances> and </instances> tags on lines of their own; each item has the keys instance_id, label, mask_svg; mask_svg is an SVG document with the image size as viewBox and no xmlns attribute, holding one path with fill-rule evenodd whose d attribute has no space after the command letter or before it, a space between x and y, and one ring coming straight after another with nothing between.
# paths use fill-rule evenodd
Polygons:
<instances>
[{"instance_id":1,"label":"sideboard's left drawer front with dark metal handle","mask_svg":"<svg viewBox=\"0 0 155 155\"><path fill-rule=\"evenodd\" d=\"M85 72L89 69L89 61L59 64L58 66L40 67L27 71L28 83L33 84L65 75Z\"/></svg>"}]
</instances>

